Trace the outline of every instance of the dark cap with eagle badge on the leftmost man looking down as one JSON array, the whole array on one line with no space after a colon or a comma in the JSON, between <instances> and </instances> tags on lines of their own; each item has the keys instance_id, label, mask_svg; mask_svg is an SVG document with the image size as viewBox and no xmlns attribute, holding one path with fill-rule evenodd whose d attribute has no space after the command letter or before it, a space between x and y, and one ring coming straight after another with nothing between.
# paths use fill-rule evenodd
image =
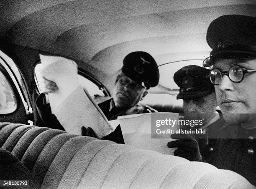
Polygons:
<instances>
[{"instance_id":1,"label":"dark cap with eagle badge on the leftmost man looking down","mask_svg":"<svg viewBox=\"0 0 256 189\"><path fill-rule=\"evenodd\" d=\"M123 73L147 89L157 86L159 70L154 58L143 51L129 53L123 59Z\"/></svg>"}]
</instances>

